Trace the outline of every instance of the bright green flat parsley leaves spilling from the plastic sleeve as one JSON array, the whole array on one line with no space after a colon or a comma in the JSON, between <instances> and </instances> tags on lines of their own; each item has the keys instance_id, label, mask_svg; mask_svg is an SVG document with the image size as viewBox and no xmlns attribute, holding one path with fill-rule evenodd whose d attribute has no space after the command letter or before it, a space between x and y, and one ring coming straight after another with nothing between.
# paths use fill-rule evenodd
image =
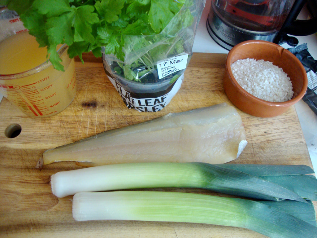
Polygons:
<instances>
[{"instance_id":1,"label":"bright green flat parsley leaves spilling from the plastic sleeve","mask_svg":"<svg viewBox=\"0 0 317 238\"><path fill-rule=\"evenodd\" d=\"M3 2L3 0L2 0ZM40 47L48 49L50 62L58 70L63 70L61 59L56 52L58 44L68 45L71 58L92 51L96 57L115 55L125 61L129 52L162 41L162 37L173 37L179 30L191 25L192 16L188 12L180 16L171 29L166 26L184 4L195 4L194 0L4 0L8 8L15 10L29 30L36 37ZM186 2L186 3L185 3ZM189 2L189 3L187 3ZM162 30L165 35L158 35ZM129 38L127 36L153 36ZM167 44L159 45L132 63L119 64L124 76L139 81L139 75L146 74L153 62L164 53ZM172 51L183 52L182 42L177 40ZM103 50L103 51L102 51ZM138 65L145 70L137 75L131 70ZM124 67L123 67L124 66Z\"/></svg>"}]
</instances>

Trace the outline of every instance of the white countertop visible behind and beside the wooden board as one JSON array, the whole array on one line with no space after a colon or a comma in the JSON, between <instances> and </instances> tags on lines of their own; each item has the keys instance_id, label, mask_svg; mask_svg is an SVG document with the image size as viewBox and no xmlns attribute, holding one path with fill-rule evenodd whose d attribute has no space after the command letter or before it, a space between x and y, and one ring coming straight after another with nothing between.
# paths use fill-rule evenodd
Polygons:
<instances>
[{"instance_id":1,"label":"white countertop visible behind and beside the wooden board","mask_svg":"<svg viewBox=\"0 0 317 238\"><path fill-rule=\"evenodd\" d=\"M201 17L197 34L195 37L193 52L201 53L225 53L229 51L219 46L209 35L206 27L206 21L209 14L211 0L206 1L206 5ZM307 19L307 10L303 9L298 19ZM299 44L307 43L308 51L317 59L317 36L296 36L299 40ZM288 45L282 45L285 48L291 48ZM314 170L317 171L317 115L308 107L303 101L299 101L295 104L295 108L301 123L301 128L304 133L305 141L307 143L310 158L313 163Z\"/></svg>"}]
</instances>

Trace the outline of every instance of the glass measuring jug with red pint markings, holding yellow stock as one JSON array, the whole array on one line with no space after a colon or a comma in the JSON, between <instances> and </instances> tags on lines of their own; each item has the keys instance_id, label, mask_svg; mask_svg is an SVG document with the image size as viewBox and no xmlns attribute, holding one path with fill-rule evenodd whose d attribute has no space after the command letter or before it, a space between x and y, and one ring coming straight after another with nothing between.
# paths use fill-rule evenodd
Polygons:
<instances>
[{"instance_id":1,"label":"glass measuring jug with red pint markings, holding yellow stock","mask_svg":"<svg viewBox=\"0 0 317 238\"><path fill-rule=\"evenodd\" d=\"M0 10L0 92L28 116L53 116L76 94L74 59L67 54L68 46L61 45L57 52L65 71L58 71L45 58L41 61L30 37L19 16Z\"/></svg>"}]
</instances>

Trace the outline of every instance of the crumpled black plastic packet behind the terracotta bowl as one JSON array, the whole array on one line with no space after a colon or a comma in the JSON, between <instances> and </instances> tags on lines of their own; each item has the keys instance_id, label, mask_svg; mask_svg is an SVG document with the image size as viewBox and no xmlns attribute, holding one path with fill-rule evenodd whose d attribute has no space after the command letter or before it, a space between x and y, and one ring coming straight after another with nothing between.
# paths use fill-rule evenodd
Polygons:
<instances>
[{"instance_id":1,"label":"crumpled black plastic packet behind the terracotta bowl","mask_svg":"<svg viewBox=\"0 0 317 238\"><path fill-rule=\"evenodd\" d=\"M317 115L317 60L308 52L307 43L289 48L288 50L301 61L306 70L308 87L303 100Z\"/></svg>"}]
</instances>

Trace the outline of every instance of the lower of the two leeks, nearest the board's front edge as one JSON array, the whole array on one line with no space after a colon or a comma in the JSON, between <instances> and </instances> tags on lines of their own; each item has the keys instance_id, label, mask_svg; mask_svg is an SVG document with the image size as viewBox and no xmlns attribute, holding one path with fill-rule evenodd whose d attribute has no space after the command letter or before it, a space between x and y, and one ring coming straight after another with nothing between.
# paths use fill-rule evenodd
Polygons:
<instances>
[{"instance_id":1,"label":"lower of the two leeks, nearest the board's front edge","mask_svg":"<svg viewBox=\"0 0 317 238\"><path fill-rule=\"evenodd\" d=\"M272 206L239 198L153 191L81 192L73 217L88 220L176 221L235 226L272 238L317 238L317 228Z\"/></svg>"}]
</instances>

